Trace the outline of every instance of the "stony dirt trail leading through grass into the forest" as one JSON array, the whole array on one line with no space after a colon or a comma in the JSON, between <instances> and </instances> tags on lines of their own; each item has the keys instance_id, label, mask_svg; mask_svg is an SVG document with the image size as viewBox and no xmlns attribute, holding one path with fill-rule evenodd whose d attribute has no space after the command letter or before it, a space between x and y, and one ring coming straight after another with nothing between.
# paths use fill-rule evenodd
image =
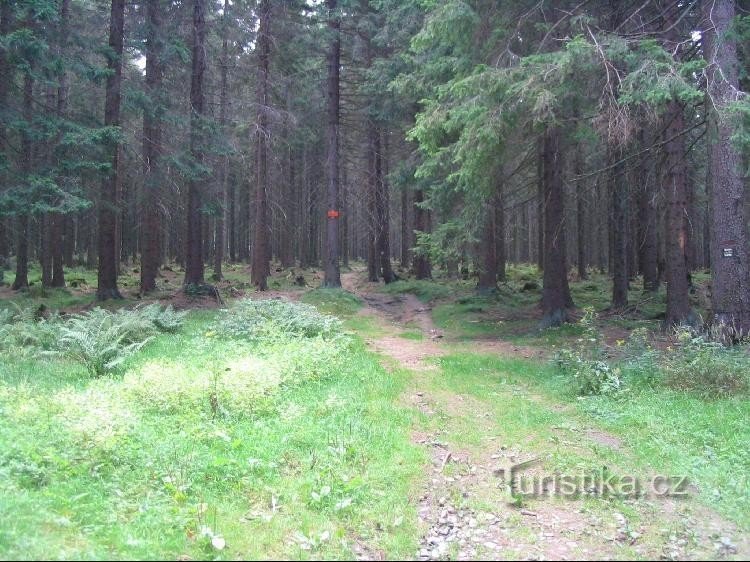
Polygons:
<instances>
[{"instance_id":1,"label":"stony dirt trail leading through grass into the forest","mask_svg":"<svg viewBox=\"0 0 750 562\"><path fill-rule=\"evenodd\" d=\"M435 327L428 305L414 295L378 292L363 272L345 273L342 285L362 299L360 314L383 328L382 334L365 339L384 356L386 368L412 373L403 402L420 420L412 438L430 461L414 498L422 529L418 560L745 559L750 554L750 544L734 524L692 499L527 500L513 495L503 470L533 461L524 477L541 478L550 474L542 471L557 453L539 446L536 427L513 441L501 420L525 419L529 409L534 415L570 415L569 425L552 426L558 434L574 431L580 420L573 419L576 414L568 406L528 389L500 389L491 392L491 399L481 391L456 391L445 384L438 358L462 352L496 354L499 359L546 353L503 341L453 341ZM414 328L421 330L421 339L405 338ZM557 446L574 450L582 459L595 457L594 463L603 455L617 472L617 459L630 458L622 440L600 428L575 431L570 433L574 441L563 439ZM370 556L363 552L366 558Z\"/></svg>"}]
</instances>

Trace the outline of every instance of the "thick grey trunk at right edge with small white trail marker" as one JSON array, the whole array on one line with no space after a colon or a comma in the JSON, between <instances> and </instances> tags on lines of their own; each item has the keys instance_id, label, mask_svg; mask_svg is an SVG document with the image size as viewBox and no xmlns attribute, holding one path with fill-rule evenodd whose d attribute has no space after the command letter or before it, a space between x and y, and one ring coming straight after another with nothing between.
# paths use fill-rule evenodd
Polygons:
<instances>
[{"instance_id":1,"label":"thick grey trunk at right edge with small white trail marker","mask_svg":"<svg viewBox=\"0 0 750 562\"><path fill-rule=\"evenodd\" d=\"M733 0L704 2L708 60L708 166L711 197L711 307L713 323L738 337L750 334L750 240L742 155L732 144L727 106L739 89L737 44L731 33Z\"/></svg>"}]
</instances>

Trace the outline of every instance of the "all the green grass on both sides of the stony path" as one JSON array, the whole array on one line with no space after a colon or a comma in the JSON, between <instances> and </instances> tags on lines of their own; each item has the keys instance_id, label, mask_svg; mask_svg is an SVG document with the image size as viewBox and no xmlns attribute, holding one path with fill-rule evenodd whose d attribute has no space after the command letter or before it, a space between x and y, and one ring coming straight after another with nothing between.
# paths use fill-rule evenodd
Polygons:
<instances>
[{"instance_id":1,"label":"all the green grass on both sides of the stony path","mask_svg":"<svg viewBox=\"0 0 750 562\"><path fill-rule=\"evenodd\" d=\"M232 283L244 275L229 271ZM459 339L567 345L581 326L536 330L539 292L520 290L536 276L533 266L514 267L491 296L476 295L471 281L387 290L437 301L435 322ZM577 304L601 310L608 287L592 276L572 290ZM438 296L446 290L456 298ZM33 297L16 300L38 305ZM49 308L64 298L56 295ZM631 316L600 317L600 325L654 325L649 315L661 298ZM355 295L314 289L301 300L358 335L343 348L322 340L251 343L216 333L221 312L193 311L179 333L157 336L117 376L91 379L61 358L4 356L0 557L347 559L359 544L411 558L431 454L411 443L415 428L475 457L501 446L543 455L550 470L686 474L702 502L750 529L748 400L653 388L637 372L627 373L624 393L578 398L551 363L463 352L436 359L437 376L386 372L361 336L388 328L361 314ZM424 337L403 328L404 339ZM415 387L435 400L434 414L402 405ZM585 438L592 428L622 446ZM465 468L449 463L445 471ZM493 487L452 501L493 511L507 504L498 494ZM580 508L646 525L639 505L587 499ZM656 535L672 532L653 527ZM512 532L529 532L522 517ZM217 550L211 537L226 548ZM628 548L618 552L638 556Z\"/></svg>"}]
</instances>

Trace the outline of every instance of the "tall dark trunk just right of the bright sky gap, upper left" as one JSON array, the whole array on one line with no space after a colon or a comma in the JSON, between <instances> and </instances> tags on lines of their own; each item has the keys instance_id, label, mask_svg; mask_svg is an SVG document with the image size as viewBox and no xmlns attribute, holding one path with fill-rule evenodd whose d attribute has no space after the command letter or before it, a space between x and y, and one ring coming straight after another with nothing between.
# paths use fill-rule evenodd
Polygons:
<instances>
[{"instance_id":1,"label":"tall dark trunk just right of the bright sky gap, upper left","mask_svg":"<svg viewBox=\"0 0 750 562\"><path fill-rule=\"evenodd\" d=\"M161 166L162 130L162 0L146 6L146 94L149 105L143 112L143 194L141 196L141 293L156 289L161 256Z\"/></svg>"}]
</instances>

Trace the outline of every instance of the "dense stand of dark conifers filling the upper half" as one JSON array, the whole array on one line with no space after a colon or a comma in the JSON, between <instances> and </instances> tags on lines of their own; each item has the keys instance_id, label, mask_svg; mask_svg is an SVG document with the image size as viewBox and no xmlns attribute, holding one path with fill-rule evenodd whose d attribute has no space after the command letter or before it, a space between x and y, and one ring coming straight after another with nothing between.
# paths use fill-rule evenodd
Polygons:
<instances>
[{"instance_id":1,"label":"dense stand of dark conifers filling the upper half","mask_svg":"<svg viewBox=\"0 0 750 562\"><path fill-rule=\"evenodd\" d=\"M122 17L122 19L121 19ZM0 257L176 261L200 290L224 261L433 267L493 291L544 267L545 325L567 279L667 284L695 323L750 330L748 36L743 2L224 0L4 2ZM188 88L188 84L190 87ZM197 288L197 289L196 289Z\"/></svg>"}]
</instances>

